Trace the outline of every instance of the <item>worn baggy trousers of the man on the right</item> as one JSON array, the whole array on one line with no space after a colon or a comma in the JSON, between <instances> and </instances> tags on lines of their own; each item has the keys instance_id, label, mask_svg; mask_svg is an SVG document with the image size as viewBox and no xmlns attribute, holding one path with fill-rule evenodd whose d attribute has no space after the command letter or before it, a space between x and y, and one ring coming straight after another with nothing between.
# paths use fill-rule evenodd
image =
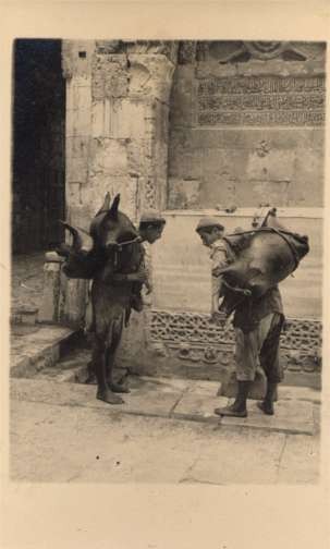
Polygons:
<instances>
[{"instance_id":1,"label":"worn baggy trousers of the man on the right","mask_svg":"<svg viewBox=\"0 0 330 549\"><path fill-rule=\"evenodd\" d=\"M235 328L235 364L239 381L254 381L259 367L264 369L270 383L282 381L283 369L280 364L282 325L283 315L271 313L247 333L241 328Z\"/></svg>"}]
</instances>

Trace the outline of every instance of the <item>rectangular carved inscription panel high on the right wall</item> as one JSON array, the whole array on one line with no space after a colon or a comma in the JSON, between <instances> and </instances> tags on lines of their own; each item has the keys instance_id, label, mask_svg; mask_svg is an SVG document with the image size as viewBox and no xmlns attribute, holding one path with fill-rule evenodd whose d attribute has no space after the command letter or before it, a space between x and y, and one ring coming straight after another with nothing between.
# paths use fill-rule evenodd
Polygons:
<instances>
[{"instance_id":1,"label":"rectangular carved inscription panel high on the right wall","mask_svg":"<svg viewBox=\"0 0 330 549\"><path fill-rule=\"evenodd\" d=\"M201 125L296 125L325 123L325 77L210 76L198 83Z\"/></svg>"}]
</instances>

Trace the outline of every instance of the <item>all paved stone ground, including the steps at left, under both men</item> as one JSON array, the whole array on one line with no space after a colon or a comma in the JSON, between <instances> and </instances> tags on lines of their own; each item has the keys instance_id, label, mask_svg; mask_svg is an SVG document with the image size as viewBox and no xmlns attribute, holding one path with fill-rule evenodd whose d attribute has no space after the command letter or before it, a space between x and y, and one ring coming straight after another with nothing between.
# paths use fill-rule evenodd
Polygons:
<instances>
[{"instance_id":1,"label":"all paved stone ground, including the steps at left, under both men","mask_svg":"<svg viewBox=\"0 0 330 549\"><path fill-rule=\"evenodd\" d=\"M38 308L44 254L13 264L13 309ZM222 418L219 385L130 377L125 404L77 383L89 352L60 363L71 331L17 325L11 341L11 477L28 481L306 484L319 467L320 393L281 387L274 417L249 401L247 419ZM26 378L29 379L26 379ZM66 382L63 382L66 381Z\"/></svg>"}]
</instances>

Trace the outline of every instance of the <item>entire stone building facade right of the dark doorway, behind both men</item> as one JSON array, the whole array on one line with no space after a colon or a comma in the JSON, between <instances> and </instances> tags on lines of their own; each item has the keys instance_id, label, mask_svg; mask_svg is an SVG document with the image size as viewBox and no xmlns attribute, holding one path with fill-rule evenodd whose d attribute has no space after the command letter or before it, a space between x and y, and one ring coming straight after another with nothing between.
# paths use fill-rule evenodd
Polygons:
<instances>
[{"instance_id":1,"label":"entire stone building facade right of the dark doorway, behind both men","mask_svg":"<svg viewBox=\"0 0 330 549\"><path fill-rule=\"evenodd\" d=\"M285 366L319 368L325 61L321 42L63 41L69 222L87 229L107 191L121 193L134 221L150 207L167 218L150 249L154 293L125 332L123 364L209 379L228 369L233 334L224 341L209 321L195 227L211 213L228 231L247 229L271 205L310 239L282 284ZM62 286L61 315L78 324L86 283Z\"/></svg>"}]
</instances>

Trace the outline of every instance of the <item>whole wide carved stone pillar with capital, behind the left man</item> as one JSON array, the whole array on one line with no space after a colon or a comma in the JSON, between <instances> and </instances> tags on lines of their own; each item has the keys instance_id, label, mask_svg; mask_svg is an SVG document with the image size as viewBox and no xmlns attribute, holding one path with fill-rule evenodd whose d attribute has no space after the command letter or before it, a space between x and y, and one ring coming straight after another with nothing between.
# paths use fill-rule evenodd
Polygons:
<instances>
[{"instance_id":1,"label":"whole wide carved stone pillar with capital, behind the left man","mask_svg":"<svg viewBox=\"0 0 330 549\"><path fill-rule=\"evenodd\" d=\"M178 46L97 42L93 61L89 185L83 202L121 193L121 209L134 221L147 208L164 209L169 99ZM83 190L84 193L85 190ZM148 259L152 267L152 247ZM132 312L119 362L135 371L146 365L152 294Z\"/></svg>"}]
</instances>

